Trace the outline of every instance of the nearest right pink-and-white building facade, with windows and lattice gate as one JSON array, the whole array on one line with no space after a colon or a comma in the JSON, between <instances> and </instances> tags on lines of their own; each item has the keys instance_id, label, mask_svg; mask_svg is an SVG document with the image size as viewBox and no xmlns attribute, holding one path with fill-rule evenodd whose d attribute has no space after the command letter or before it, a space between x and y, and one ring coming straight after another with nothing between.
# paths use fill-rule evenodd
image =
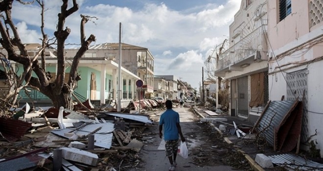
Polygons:
<instances>
[{"instance_id":1,"label":"nearest right pink-and-white building facade, with windows and lattice gate","mask_svg":"<svg viewBox=\"0 0 323 171\"><path fill-rule=\"evenodd\" d=\"M268 9L270 100L302 101L301 144L316 140L322 156L323 1L268 0Z\"/></svg>"}]
</instances>

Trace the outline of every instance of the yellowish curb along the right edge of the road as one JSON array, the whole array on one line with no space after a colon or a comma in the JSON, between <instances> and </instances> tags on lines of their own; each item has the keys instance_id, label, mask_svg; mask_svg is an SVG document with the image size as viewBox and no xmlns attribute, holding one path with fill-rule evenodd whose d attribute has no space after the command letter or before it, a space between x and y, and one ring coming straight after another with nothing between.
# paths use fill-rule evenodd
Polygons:
<instances>
[{"instance_id":1,"label":"yellowish curb along the right edge of the road","mask_svg":"<svg viewBox=\"0 0 323 171\"><path fill-rule=\"evenodd\" d=\"M200 112L198 112L197 110L196 110L196 107L193 107L193 110L194 110L194 112L195 113L197 113L199 116L201 116L202 118L205 118ZM222 133L222 131L219 129L219 128L217 128L217 127L215 127L215 125L214 124L212 124L212 123L208 123L211 127L213 127L213 128L215 128L219 133L220 133L220 135L221 136L223 136L223 133ZM228 137L224 137L224 140L228 143L228 144L232 144L232 142L229 140L229 138ZM265 171L264 169L262 169L261 168L261 166L259 166L255 161L254 161L254 159L253 158L251 158L250 157L250 155L248 155L248 154L246 154L245 153L245 151L243 151L243 150L238 150L239 152L241 152L244 156L245 156L245 158L246 158L246 160L248 161L248 163L250 164L250 167L254 170L254 171Z\"/></svg>"}]
</instances>

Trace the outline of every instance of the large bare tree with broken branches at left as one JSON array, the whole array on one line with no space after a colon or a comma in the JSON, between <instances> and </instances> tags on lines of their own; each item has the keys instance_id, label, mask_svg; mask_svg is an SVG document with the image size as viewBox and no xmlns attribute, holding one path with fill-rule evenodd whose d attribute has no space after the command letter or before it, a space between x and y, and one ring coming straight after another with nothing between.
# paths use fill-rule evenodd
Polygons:
<instances>
[{"instance_id":1,"label":"large bare tree with broken branches at left","mask_svg":"<svg viewBox=\"0 0 323 171\"><path fill-rule=\"evenodd\" d=\"M26 4L26 2L23 2L22 0L16 1ZM17 79L15 83L16 91L14 93L11 92L12 95L5 97L6 99L3 100L7 101L8 99L13 98L15 95L17 97L17 93L24 87L28 86L37 89L50 98L54 107L69 107L69 102L71 100L69 97L69 92L73 88L70 87L70 85L75 85L81 79L77 74L78 64L81 57L88 50L90 43L95 41L94 35L90 35L90 37L86 39L84 33L84 25L91 19L91 17L81 15L81 47L73 58L69 72L69 81L68 83L65 83L65 41L70 33L70 29L65 27L65 21L71 14L75 13L79 9L79 6L76 0L72 0L72 6L68 8L69 0L62 0L61 11L58 14L57 30L54 32L55 38L48 40L48 36L44 32L45 5L43 0L36 1L42 7L41 31L43 38L41 39L42 47L33 57L28 55L17 31L17 27L15 26L11 17L11 9L14 6L14 0L0 1L0 12L1 15L3 14L0 20L0 43L7 52L5 58L8 61L15 61L16 63L23 65L23 74L19 77L14 77ZM13 35L10 35L11 32L9 32L9 29L11 29ZM51 43L49 43L50 41ZM44 54L44 49L49 47L52 43L57 43L57 73L54 81L50 81L51 75L49 72L46 72L46 59ZM19 54L16 52L16 48L19 49ZM39 56L41 56L41 64L38 60ZM32 72L34 72L37 77L33 77ZM23 81L25 82L24 85Z\"/></svg>"}]
</instances>

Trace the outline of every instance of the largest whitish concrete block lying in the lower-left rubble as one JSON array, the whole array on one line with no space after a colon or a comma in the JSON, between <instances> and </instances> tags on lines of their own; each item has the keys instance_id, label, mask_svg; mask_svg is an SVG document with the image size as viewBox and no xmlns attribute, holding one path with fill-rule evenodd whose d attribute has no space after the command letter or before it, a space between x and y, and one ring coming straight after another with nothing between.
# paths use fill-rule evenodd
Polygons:
<instances>
[{"instance_id":1,"label":"largest whitish concrete block lying in the lower-left rubble","mask_svg":"<svg viewBox=\"0 0 323 171\"><path fill-rule=\"evenodd\" d=\"M98 156L85 150L79 150L75 148L61 148L63 152L63 158L79 163L84 163L91 166L96 166Z\"/></svg>"}]
</instances>

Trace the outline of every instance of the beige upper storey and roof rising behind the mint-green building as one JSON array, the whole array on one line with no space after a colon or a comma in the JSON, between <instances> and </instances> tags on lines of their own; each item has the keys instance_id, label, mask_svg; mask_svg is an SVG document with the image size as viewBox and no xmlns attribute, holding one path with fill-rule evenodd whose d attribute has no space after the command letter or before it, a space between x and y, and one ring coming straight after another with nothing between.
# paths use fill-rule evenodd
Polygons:
<instances>
[{"instance_id":1,"label":"beige upper storey and roof rising behind the mint-green building","mask_svg":"<svg viewBox=\"0 0 323 171\"><path fill-rule=\"evenodd\" d=\"M66 55L72 57L76 49L68 49ZM89 47L84 58L104 58L119 64L119 43L103 43ZM150 98L154 93L154 57L145 47L121 43L121 66L137 75L144 85L140 88L143 98ZM127 78L122 78L122 80ZM139 97L137 95L137 97Z\"/></svg>"}]
</instances>

